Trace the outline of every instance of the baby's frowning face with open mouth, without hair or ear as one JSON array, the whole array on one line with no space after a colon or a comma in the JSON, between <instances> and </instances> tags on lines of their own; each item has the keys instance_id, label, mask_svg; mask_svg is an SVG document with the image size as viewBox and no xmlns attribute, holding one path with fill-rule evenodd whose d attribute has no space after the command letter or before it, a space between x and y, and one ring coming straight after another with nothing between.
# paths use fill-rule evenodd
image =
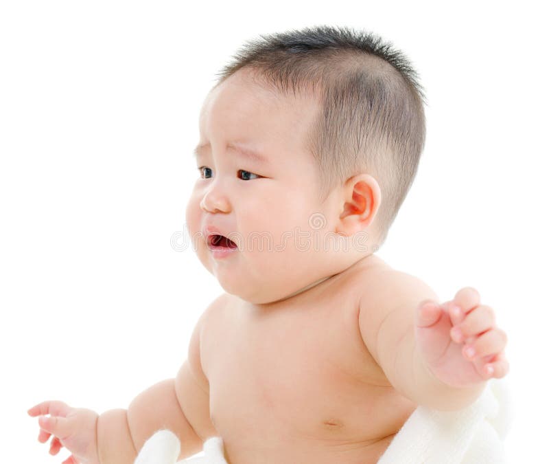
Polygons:
<instances>
[{"instance_id":1,"label":"baby's frowning face with open mouth, without hair or ear","mask_svg":"<svg viewBox=\"0 0 549 464\"><path fill-rule=\"evenodd\" d=\"M196 157L201 170L187 228L202 264L225 291L244 300L285 298L334 266L322 246L325 232L334 229L333 214L329 202L318 199L318 168L305 151L316 105L271 93L238 71L202 107L198 146L205 146ZM244 155L240 146L262 159ZM224 256L211 250L208 228L238 247Z\"/></svg>"}]
</instances>

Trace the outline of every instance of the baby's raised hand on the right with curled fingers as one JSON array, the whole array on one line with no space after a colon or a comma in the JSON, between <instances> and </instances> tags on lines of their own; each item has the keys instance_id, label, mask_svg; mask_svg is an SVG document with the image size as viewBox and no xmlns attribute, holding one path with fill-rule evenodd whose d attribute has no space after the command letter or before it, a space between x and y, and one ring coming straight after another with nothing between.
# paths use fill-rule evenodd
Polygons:
<instances>
[{"instance_id":1,"label":"baby's raised hand on the right with curled fingers","mask_svg":"<svg viewBox=\"0 0 549 464\"><path fill-rule=\"evenodd\" d=\"M422 302L415 335L426 366L449 386L474 386L509 371L504 357L507 335L496 327L493 310L480 305L480 295L471 287L460 289L454 300L442 305Z\"/></svg>"}]
</instances>

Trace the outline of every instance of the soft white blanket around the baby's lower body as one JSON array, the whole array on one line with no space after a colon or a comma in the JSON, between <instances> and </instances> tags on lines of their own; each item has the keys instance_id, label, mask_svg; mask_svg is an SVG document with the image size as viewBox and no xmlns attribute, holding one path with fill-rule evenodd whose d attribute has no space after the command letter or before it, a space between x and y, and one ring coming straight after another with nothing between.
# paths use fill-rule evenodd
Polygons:
<instances>
[{"instance_id":1,"label":"soft white blanket around the baby's lower body","mask_svg":"<svg viewBox=\"0 0 549 464\"><path fill-rule=\"evenodd\" d=\"M491 379L482 395L459 411L419 406L377 464L504 464L504 438L511 424L506 379ZM221 437L204 443L204 456L177 461L180 442L170 430L148 439L134 464L226 464ZM237 463L236 463L237 464Z\"/></svg>"}]
</instances>

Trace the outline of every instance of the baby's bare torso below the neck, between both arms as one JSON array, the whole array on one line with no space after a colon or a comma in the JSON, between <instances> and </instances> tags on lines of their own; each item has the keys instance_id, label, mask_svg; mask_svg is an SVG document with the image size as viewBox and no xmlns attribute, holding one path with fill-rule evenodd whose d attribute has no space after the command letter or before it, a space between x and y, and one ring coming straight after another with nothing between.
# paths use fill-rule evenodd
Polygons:
<instances>
[{"instance_id":1,"label":"baby's bare torso below the neck, between both arms","mask_svg":"<svg viewBox=\"0 0 549 464\"><path fill-rule=\"evenodd\" d=\"M364 346L352 294L318 297L266 312L235 304L202 340L211 419L233 462L254 462L257 450L282 462L324 449L327 462L351 450L365 462L360 448L394 434L413 411Z\"/></svg>"}]
</instances>

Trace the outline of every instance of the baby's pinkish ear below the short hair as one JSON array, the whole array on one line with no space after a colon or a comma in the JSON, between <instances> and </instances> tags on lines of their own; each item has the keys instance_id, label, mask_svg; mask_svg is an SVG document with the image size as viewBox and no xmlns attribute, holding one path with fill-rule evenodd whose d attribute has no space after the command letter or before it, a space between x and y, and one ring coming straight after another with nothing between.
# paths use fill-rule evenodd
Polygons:
<instances>
[{"instance_id":1,"label":"baby's pinkish ear below the short hair","mask_svg":"<svg viewBox=\"0 0 549 464\"><path fill-rule=\"evenodd\" d=\"M372 223L382 201L382 192L377 181L369 174L350 177L342 189L342 212L336 232L351 236Z\"/></svg>"}]
</instances>

